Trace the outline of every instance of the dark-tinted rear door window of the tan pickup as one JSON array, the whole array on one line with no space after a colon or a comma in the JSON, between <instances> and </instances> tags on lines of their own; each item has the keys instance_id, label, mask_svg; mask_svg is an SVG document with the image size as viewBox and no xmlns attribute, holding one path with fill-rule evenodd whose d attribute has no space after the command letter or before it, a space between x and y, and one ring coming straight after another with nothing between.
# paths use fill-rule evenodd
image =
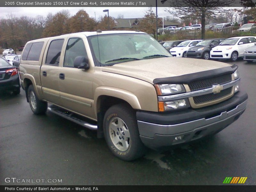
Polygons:
<instances>
[{"instance_id":1,"label":"dark-tinted rear door window of the tan pickup","mask_svg":"<svg viewBox=\"0 0 256 192\"><path fill-rule=\"evenodd\" d=\"M60 63L60 54L61 49L64 43L64 39L53 40L49 46L47 56L46 56L46 65L55 65L58 66Z\"/></svg>"}]
</instances>

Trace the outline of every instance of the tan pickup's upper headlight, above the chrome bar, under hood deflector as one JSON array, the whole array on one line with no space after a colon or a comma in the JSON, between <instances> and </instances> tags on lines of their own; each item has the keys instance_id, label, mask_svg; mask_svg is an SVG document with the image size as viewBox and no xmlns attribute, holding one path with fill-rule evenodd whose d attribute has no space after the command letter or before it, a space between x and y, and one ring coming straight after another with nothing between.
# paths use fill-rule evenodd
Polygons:
<instances>
[{"instance_id":1,"label":"tan pickup's upper headlight, above the chrome bar, under hood deflector","mask_svg":"<svg viewBox=\"0 0 256 192\"><path fill-rule=\"evenodd\" d=\"M184 86L181 84L155 84L154 86L158 96L186 92Z\"/></svg>"}]
</instances>

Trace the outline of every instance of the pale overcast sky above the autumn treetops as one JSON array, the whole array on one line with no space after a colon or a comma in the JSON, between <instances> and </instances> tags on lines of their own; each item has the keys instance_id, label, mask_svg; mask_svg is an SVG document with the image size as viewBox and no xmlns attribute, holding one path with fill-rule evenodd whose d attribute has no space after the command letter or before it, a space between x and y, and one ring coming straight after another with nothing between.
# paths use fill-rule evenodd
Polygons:
<instances>
[{"instance_id":1,"label":"pale overcast sky above the autumn treetops","mask_svg":"<svg viewBox=\"0 0 256 192\"><path fill-rule=\"evenodd\" d=\"M16 17L29 16L34 17L36 15L46 16L47 13L56 13L60 10L68 9L71 15L76 14L80 9L84 9L90 17L96 18L103 16L105 13L102 12L104 9L109 10L109 16L117 17L119 14L124 15L124 18L141 18L145 15L147 7L0 7L0 18L5 18L8 13L12 13ZM167 12L164 12L164 7L158 7L158 17L169 16ZM153 7L154 12L156 8Z\"/></svg>"}]
</instances>

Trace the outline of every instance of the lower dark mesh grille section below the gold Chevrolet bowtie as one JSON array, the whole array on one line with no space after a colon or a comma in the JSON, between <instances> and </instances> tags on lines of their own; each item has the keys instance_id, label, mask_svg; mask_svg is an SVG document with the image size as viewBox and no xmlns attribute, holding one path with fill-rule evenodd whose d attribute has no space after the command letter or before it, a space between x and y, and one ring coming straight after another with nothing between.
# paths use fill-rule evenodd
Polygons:
<instances>
[{"instance_id":1,"label":"lower dark mesh grille section below the gold Chevrolet bowtie","mask_svg":"<svg viewBox=\"0 0 256 192\"><path fill-rule=\"evenodd\" d=\"M205 103L205 102L220 99L222 97L225 97L231 94L231 92L232 92L232 87L229 87L228 89L222 90L220 93L216 93L216 94L210 93L206 95L200 95L200 96L193 97L193 99L195 104L200 104L200 103Z\"/></svg>"}]
</instances>

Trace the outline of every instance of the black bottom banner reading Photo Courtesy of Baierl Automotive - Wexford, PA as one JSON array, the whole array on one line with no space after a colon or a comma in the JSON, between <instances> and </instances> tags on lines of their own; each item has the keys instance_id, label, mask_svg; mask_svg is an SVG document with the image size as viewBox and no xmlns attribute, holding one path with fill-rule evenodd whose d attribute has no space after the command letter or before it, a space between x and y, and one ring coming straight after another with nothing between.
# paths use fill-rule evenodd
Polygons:
<instances>
[{"instance_id":1,"label":"black bottom banner reading Photo Courtesy of Baierl Automotive - Wexford, PA","mask_svg":"<svg viewBox=\"0 0 256 192\"><path fill-rule=\"evenodd\" d=\"M207 191L207 192L216 192L216 191L232 191L232 192L251 192L256 191L256 186L243 186L243 185L222 185L222 186L1 186L1 191L95 191L95 192L131 192L131 191L161 191L161 192L196 192L196 191Z\"/></svg>"}]
</instances>

